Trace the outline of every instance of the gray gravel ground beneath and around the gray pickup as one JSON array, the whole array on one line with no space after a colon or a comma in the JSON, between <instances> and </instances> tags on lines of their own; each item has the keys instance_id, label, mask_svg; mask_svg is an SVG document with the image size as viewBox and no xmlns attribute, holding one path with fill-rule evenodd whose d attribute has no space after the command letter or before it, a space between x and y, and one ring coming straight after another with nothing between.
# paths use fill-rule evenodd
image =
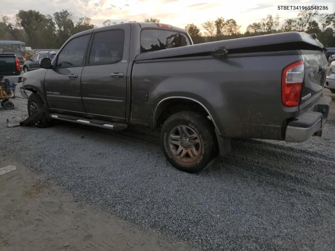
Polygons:
<instances>
[{"instance_id":1,"label":"gray gravel ground beneath and around the gray pickup","mask_svg":"<svg viewBox=\"0 0 335 251\"><path fill-rule=\"evenodd\" d=\"M0 110L0 153L76 201L203 250L335 250L334 101L322 138L236 140L229 156L198 174L173 168L150 130L7 128L8 117L27 113L25 99L13 101L15 110Z\"/></svg>"}]
</instances>

